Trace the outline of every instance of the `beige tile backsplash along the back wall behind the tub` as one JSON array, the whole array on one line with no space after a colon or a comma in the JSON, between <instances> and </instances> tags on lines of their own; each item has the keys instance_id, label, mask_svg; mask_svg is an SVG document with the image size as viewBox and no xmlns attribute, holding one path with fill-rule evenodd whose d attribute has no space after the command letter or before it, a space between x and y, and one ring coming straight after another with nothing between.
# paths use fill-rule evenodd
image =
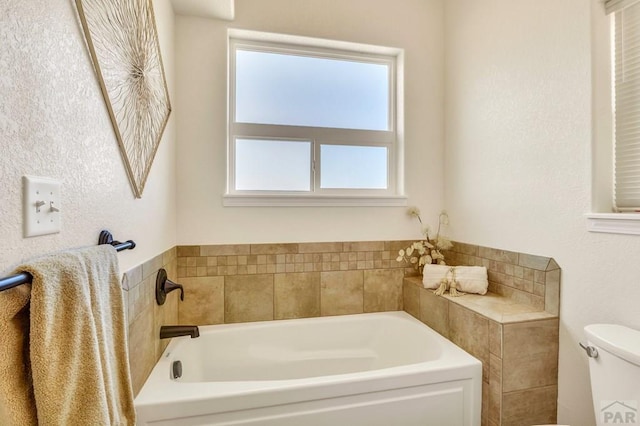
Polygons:
<instances>
[{"instance_id":1,"label":"beige tile backsplash along the back wall behind the tub","mask_svg":"<svg viewBox=\"0 0 640 426\"><path fill-rule=\"evenodd\" d=\"M402 310L407 241L179 246L183 324Z\"/></svg>"}]
</instances>

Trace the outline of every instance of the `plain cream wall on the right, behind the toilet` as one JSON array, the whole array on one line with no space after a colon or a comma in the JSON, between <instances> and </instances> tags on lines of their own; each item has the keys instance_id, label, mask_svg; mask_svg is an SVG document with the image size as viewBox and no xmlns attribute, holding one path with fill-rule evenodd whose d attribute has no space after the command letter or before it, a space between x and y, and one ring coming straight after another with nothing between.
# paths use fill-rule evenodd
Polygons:
<instances>
[{"instance_id":1,"label":"plain cream wall on the right, behind the toilet","mask_svg":"<svg viewBox=\"0 0 640 426\"><path fill-rule=\"evenodd\" d=\"M594 234L591 20L601 2L445 2L452 236L562 266L558 421L593 425L583 327L640 328L640 239ZM606 32L600 34L606 37ZM606 61L594 58L596 63Z\"/></svg>"}]
</instances>

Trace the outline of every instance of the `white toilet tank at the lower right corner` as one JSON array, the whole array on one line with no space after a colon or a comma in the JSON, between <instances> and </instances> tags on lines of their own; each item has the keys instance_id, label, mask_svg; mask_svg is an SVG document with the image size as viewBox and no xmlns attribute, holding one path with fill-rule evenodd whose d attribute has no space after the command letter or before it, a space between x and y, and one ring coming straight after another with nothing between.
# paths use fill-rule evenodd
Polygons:
<instances>
[{"instance_id":1,"label":"white toilet tank at the lower right corner","mask_svg":"<svg viewBox=\"0 0 640 426\"><path fill-rule=\"evenodd\" d=\"M640 331L616 324L584 328L589 346L591 393L598 425L640 425Z\"/></svg>"}]
</instances>

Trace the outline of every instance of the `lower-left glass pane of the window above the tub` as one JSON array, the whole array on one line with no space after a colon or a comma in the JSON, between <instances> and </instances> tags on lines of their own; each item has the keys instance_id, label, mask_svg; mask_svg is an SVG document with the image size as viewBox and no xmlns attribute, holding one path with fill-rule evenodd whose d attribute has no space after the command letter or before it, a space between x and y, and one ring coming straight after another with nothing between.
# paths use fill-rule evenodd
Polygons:
<instances>
[{"instance_id":1,"label":"lower-left glass pane of the window above the tub","mask_svg":"<svg viewBox=\"0 0 640 426\"><path fill-rule=\"evenodd\" d=\"M311 142L236 139L236 190L310 191Z\"/></svg>"}]
</instances>

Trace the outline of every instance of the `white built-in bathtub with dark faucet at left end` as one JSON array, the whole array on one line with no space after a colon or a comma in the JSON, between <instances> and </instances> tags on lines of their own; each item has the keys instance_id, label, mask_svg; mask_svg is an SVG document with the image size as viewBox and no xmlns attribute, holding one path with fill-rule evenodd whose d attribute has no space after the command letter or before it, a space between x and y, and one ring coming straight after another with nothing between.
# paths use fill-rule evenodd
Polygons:
<instances>
[{"instance_id":1,"label":"white built-in bathtub with dark faucet at left end","mask_svg":"<svg viewBox=\"0 0 640 426\"><path fill-rule=\"evenodd\" d=\"M478 426L481 386L480 361L385 312L200 327L135 406L139 425Z\"/></svg>"}]
</instances>

